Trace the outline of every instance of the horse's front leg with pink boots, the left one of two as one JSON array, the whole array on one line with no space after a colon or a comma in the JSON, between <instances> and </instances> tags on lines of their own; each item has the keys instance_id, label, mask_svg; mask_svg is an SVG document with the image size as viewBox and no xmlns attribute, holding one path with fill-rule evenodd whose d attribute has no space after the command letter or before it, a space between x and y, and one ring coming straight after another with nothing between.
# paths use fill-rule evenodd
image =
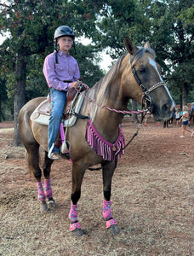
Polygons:
<instances>
[{"instance_id":1,"label":"horse's front leg with pink boots, the left one of two","mask_svg":"<svg viewBox=\"0 0 194 256\"><path fill-rule=\"evenodd\" d=\"M83 183L83 176L85 173L85 167L80 166L78 163L73 163L72 166L72 191L71 191L71 209L69 212L69 218L71 220L70 230L74 236L83 236L83 230L81 224L77 218L77 201L81 196L81 186Z\"/></svg>"}]
</instances>

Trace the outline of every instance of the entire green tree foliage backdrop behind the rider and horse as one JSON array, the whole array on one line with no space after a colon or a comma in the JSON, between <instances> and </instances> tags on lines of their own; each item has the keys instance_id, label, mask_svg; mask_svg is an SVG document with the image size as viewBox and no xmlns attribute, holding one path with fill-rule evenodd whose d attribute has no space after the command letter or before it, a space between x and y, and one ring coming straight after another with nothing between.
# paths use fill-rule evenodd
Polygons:
<instances>
[{"instance_id":1,"label":"entire green tree foliage backdrop behind the rider and horse","mask_svg":"<svg viewBox=\"0 0 194 256\"><path fill-rule=\"evenodd\" d=\"M186 90L191 98L193 14L191 0L7 0L0 3L1 33L10 35L0 45L0 92L3 93L2 86L6 87L9 102L13 103L17 55L22 55L27 63L26 101L47 95L43 60L54 50L55 28L68 25L77 37L93 41L88 46L77 43L77 55L71 50L85 84L92 86L104 75L97 65L98 51L107 49L117 59L125 51L124 38L129 36L136 45L149 40L174 97L180 98Z\"/></svg>"}]
</instances>

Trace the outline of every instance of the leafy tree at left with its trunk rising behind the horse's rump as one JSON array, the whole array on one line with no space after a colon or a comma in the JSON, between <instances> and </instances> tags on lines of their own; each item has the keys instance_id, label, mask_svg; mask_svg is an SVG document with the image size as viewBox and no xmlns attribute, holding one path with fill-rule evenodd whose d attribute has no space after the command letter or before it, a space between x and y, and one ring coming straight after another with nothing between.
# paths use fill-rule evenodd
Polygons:
<instances>
[{"instance_id":1,"label":"leafy tree at left with its trunk rising behind the horse's rump","mask_svg":"<svg viewBox=\"0 0 194 256\"><path fill-rule=\"evenodd\" d=\"M0 3L0 10L0 27L10 33L10 38L0 46L3 53L0 63L14 77L14 145L18 146L21 143L18 114L26 102L26 73L31 58L45 57L53 50L49 42L53 41L54 29L61 24L68 24L79 35L93 30L94 22L91 15L84 13L82 1L77 4L68 0L8 0Z\"/></svg>"}]
</instances>

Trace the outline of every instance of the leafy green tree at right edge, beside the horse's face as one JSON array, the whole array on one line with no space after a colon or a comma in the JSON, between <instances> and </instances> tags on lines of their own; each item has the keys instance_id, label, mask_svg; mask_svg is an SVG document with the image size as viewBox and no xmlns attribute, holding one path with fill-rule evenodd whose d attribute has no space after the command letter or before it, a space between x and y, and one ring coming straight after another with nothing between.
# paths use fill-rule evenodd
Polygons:
<instances>
[{"instance_id":1,"label":"leafy green tree at right edge, beside the horse's face","mask_svg":"<svg viewBox=\"0 0 194 256\"><path fill-rule=\"evenodd\" d=\"M183 105L188 101L189 91L194 89L192 3L191 0L154 1L149 14L157 61L163 67L169 89Z\"/></svg>"}]
</instances>

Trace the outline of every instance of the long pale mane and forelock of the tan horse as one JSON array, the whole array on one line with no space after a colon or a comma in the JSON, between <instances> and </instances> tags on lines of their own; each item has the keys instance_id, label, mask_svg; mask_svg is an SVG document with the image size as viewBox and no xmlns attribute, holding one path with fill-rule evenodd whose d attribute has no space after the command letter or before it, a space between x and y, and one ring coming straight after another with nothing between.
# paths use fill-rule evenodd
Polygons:
<instances>
[{"instance_id":1,"label":"long pale mane and forelock of the tan horse","mask_svg":"<svg viewBox=\"0 0 194 256\"><path fill-rule=\"evenodd\" d=\"M138 61L145 52L150 53L155 57L155 52L151 48L144 48L144 47L138 47L137 52L132 58L133 64L135 61ZM121 63L123 61L123 58L128 54L126 52L123 54L117 61L116 63L111 67L109 72L102 78L100 79L99 82L94 84L91 90L88 91L87 96L92 99L94 102L97 102L100 105L104 105L106 102L106 99L109 96L109 91L110 91L110 86L114 79L117 79L118 72L119 72L119 67L121 66ZM100 111L100 107L92 102L89 104L89 113L90 113L90 118L93 121L94 116L98 114L98 111Z\"/></svg>"}]
</instances>

